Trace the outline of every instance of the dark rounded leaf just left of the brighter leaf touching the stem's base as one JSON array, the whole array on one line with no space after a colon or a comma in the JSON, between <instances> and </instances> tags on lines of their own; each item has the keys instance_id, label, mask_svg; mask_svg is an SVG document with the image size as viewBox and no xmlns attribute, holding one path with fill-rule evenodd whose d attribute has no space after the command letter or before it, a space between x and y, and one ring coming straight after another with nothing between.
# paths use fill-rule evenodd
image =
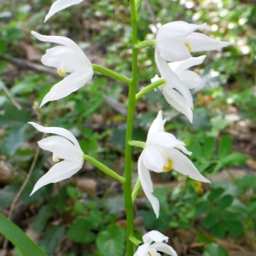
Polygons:
<instances>
[{"instance_id":1,"label":"dark rounded leaf just left of the brighter leaf touching the stem's base","mask_svg":"<svg viewBox=\"0 0 256 256\"><path fill-rule=\"evenodd\" d=\"M76 242L89 243L95 241L95 234L90 231L91 224L85 218L77 218L67 230L67 236Z\"/></svg>"}]
</instances>

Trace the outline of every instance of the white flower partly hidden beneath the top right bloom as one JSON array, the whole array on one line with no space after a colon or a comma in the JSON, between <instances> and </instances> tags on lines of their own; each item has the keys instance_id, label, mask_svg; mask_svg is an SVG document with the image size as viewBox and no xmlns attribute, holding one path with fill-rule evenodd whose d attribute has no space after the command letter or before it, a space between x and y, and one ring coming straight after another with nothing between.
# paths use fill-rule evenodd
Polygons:
<instances>
[{"instance_id":1,"label":"white flower partly hidden beneath the top right bloom","mask_svg":"<svg viewBox=\"0 0 256 256\"><path fill-rule=\"evenodd\" d=\"M168 65L171 68L170 72L173 72L177 75L177 78L180 80L180 82L183 84L183 87L186 89L193 89L196 86L199 86L202 82L201 77L196 74L193 71L187 70L189 67L193 67L195 65L201 64L206 58L206 55L202 55L200 57L196 58L189 58L185 61L176 61L176 62L170 62ZM151 79L151 82L157 81L159 78L158 75L155 75L154 79ZM166 98L166 101L173 106L173 108L176 108L177 111L183 113L189 121L192 123L193 120L193 105L191 108L190 102L187 101L187 99L179 93L179 86L167 81L166 84L161 85L161 89L163 91L163 95Z\"/></svg>"}]
</instances>

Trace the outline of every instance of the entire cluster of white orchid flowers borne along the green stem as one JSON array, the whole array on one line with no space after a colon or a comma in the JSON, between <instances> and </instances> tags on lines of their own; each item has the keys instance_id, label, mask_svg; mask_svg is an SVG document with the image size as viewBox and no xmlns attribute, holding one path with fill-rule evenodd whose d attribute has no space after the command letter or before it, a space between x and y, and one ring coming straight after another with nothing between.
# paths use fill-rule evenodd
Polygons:
<instances>
[{"instance_id":1,"label":"entire cluster of white orchid flowers borne along the green stem","mask_svg":"<svg viewBox=\"0 0 256 256\"><path fill-rule=\"evenodd\" d=\"M81 2L83 0L55 1L44 21L48 20L61 9L66 9ZM188 69L195 65L200 65L206 58L206 55L192 57L191 53L221 49L230 45L228 42L219 42L202 33L195 32L205 27L206 24L195 25L184 21L169 22L160 27L154 41L155 63L159 69L161 78L165 80L165 83L160 85L160 89L166 101L173 108L176 108L177 111L183 113L191 123L193 122L192 110L194 105L190 89L199 86L202 79L198 74ZM32 35L40 41L59 44L58 46L47 49L41 61L46 66L55 67L60 76L70 73L49 90L46 96L44 96L40 107L44 106L47 102L56 101L70 95L73 91L79 90L79 88L92 79L94 74L93 65L83 50L73 40L60 36L44 36L38 32L32 32ZM119 77L116 74L114 76L114 78ZM151 81L154 83L158 79L160 77L156 75ZM123 77L123 81L130 83L129 81L131 79L124 79ZM165 122L166 120L163 119L162 111L160 110L148 130L147 141L138 159L137 166L140 183L145 195L148 197L148 201L154 209L156 218L160 214L160 203L154 196L154 185L149 171L170 172L174 170L196 181L203 183L210 182L206 177L201 175L191 160L186 156L190 155L191 152L185 148L185 144L165 131ZM40 148L53 153L53 160L56 164L38 180L32 190L33 194L44 185L56 183L73 176L83 166L84 159L89 160L90 157L88 158L88 156L84 155L77 139L70 131L58 127L44 127L33 122L29 124L38 131L55 134L55 136L46 137L38 142ZM103 172L107 174L113 172L99 162L97 162L96 166L105 170ZM115 173L112 177L117 176ZM124 177L117 179L121 182L124 180L125 183ZM167 242L168 237L158 231L150 231L143 236L143 245L137 248L134 256L160 256L158 252L177 256L173 248L168 246L164 241Z\"/></svg>"}]
</instances>

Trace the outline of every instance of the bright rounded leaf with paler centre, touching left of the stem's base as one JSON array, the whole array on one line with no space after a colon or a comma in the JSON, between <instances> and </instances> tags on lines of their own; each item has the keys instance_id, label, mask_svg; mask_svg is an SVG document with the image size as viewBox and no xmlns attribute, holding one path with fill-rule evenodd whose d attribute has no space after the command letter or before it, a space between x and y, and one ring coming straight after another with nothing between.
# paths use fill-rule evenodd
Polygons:
<instances>
[{"instance_id":1,"label":"bright rounded leaf with paler centre, touching left of the stem's base","mask_svg":"<svg viewBox=\"0 0 256 256\"><path fill-rule=\"evenodd\" d=\"M96 247L103 256L123 256L125 250L125 230L115 224L108 226L96 236Z\"/></svg>"}]
</instances>

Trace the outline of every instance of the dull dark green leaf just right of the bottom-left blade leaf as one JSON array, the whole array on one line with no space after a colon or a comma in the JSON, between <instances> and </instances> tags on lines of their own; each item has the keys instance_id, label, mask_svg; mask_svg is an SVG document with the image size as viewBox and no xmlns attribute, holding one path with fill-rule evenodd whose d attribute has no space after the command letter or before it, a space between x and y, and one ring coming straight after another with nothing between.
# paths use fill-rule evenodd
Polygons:
<instances>
[{"instance_id":1,"label":"dull dark green leaf just right of the bottom-left blade leaf","mask_svg":"<svg viewBox=\"0 0 256 256\"><path fill-rule=\"evenodd\" d=\"M56 225L49 227L46 232L44 232L44 239L40 241L42 247L45 248L46 253L54 253L58 243L64 236L65 229L62 226Z\"/></svg>"}]
</instances>

